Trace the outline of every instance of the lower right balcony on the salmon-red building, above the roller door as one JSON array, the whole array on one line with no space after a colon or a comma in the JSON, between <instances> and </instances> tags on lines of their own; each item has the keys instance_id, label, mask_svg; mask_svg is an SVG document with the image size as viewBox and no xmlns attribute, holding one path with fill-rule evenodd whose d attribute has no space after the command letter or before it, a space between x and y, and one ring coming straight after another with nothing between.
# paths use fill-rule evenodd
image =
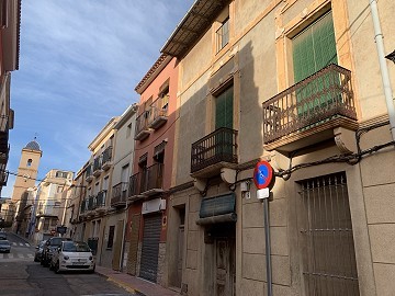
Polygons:
<instances>
[{"instance_id":1,"label":"lower right balcony on the salmon-red building, above the roller door","mask_svg":"<svg viewBox=\"0 0 395 296\"><path fill-rule=\"evenodd\" d=\"M145 196L163 192L163 163L155 163L140 174L140 194Z\"/></svg>"}]
</instances>

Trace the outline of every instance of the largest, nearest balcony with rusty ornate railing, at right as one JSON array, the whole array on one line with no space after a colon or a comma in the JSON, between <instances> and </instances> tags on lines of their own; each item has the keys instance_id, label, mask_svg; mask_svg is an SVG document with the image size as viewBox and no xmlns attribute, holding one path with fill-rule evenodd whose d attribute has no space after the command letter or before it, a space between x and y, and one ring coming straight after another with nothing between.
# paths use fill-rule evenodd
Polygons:
<instances>
[{"instance_id":1,"label":"largest, nearest balcony with rusty ornate railing, at right","mask_svg":"<svg viewBox=\"0 0 395 296\"><path fill-rule=\"evenodd\" d=\"M356 129L351 71L329 65L262 104L267 150L291 151L334 138L334 128Z\"/></svg>"}]
</instances>

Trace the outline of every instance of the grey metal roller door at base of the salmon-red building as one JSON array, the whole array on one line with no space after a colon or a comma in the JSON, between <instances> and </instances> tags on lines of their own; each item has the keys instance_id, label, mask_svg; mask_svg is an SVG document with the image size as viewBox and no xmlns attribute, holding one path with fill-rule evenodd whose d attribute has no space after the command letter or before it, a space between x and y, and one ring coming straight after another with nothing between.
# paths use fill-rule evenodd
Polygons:
<instances>
[{"instance_id":1,"label":"grey metal roller door at base of the salmon-red building","mask_svg":"<svg viewBox=\"0 0 395 296\"><path fill-rule=\"evenodd\" d=\"M144 216L140 277L156 283L158 272L161 215Z\"/></svg>"}]
</instances>

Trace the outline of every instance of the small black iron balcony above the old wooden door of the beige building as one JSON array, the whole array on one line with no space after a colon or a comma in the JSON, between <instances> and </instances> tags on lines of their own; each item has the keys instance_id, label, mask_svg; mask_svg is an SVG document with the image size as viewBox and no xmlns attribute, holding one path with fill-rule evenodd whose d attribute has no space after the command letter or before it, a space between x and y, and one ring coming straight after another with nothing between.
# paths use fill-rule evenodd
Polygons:
<instances>
[{"instance_id":1,"label":"small black iron balcony above the old wooden door of the beige building","mask_svg":"<svg viewBox=\"0 0 395 296\"><path fill-rule=\"evenodd\" d=\"M208 178L237 164L237 130L221 127L192 144L191 175Z\"/></svg>"}]
</instances>

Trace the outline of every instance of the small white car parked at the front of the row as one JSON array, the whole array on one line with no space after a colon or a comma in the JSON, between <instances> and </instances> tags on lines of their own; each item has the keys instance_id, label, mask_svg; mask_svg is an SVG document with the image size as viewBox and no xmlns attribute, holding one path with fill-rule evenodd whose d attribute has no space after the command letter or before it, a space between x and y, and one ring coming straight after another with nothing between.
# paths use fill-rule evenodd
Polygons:
<instances>
[{"instance_id":1,"label":"small white car parked at the front of the row","mask_svg":"<svg viewBox=\"0 0 395 296\"><path fill-rule=\"evenodd\" d=\"M94 272L95 263L92 250L82 241L63 241L53 253L50 270L60 271L90 271Z\"/></svg>"}]
</instances>

